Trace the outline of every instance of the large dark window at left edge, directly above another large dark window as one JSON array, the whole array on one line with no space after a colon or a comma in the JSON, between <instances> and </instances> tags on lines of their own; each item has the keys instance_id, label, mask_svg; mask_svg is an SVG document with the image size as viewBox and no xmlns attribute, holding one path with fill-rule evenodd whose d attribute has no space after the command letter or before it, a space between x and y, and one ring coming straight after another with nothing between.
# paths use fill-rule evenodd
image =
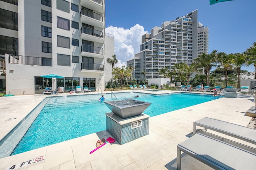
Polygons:
<instances>
[{"instance_id":1,"label":"large dark window at left edge, directly above another large dark window","mask_svg":"<svg viewBox=\"0 0 256 170\"><path fill-rule=\"evenodd\" d=\"M0 27L18 31L18 13L0 9Z\"/></svg>"}]
</instances>

